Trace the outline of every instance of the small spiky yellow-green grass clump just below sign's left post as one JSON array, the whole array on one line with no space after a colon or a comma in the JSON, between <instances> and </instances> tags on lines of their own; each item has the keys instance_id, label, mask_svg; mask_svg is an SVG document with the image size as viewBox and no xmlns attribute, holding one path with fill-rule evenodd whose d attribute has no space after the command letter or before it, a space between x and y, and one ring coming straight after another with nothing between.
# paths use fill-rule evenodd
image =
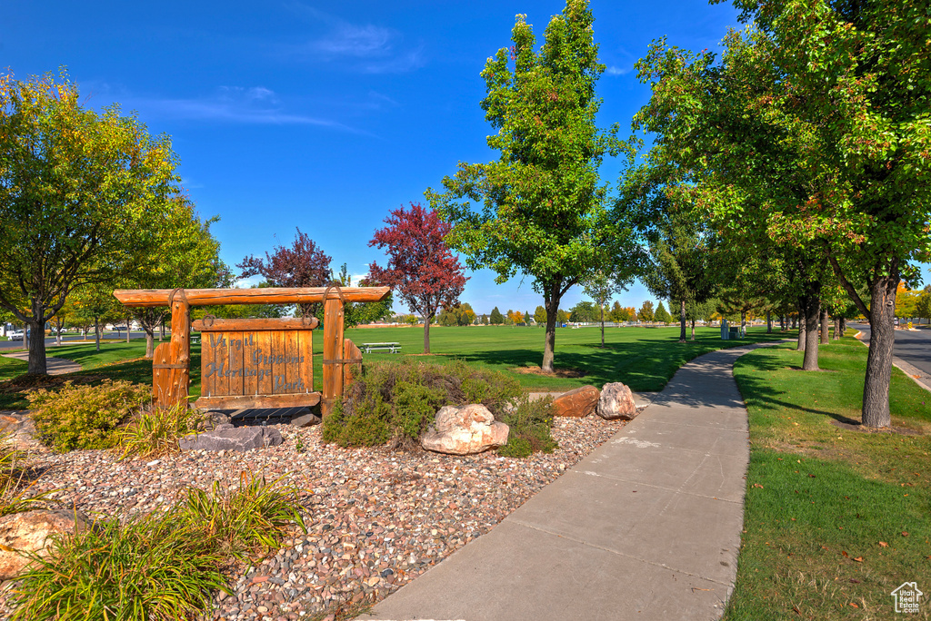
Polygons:
<instances>
[{"instance_id":1,"label":"small spiky yellow-green grass clump just below sign's left post","mask_svg":"<svg viewBox=\"0 0 931 621\"><path fill-rule=\"evenodd\" d=\"M154 412L140 412L128 425L116 431L116 450L123 457L154 457L177 453L178 440L194 433L201 413L178 403Z\"/></svg>"}]
</instances>

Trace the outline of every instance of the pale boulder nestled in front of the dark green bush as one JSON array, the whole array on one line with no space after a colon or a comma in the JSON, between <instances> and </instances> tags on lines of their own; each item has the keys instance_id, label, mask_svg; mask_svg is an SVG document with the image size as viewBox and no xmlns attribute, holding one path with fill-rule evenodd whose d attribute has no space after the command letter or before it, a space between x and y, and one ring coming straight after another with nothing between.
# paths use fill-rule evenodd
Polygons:
<instances>
[{"instance_id":1,"label":"pale boulder nestled in front of the dark green bush","mask_svg":"<svg viewBox=\"0 0 931 621\"><path fill-rule=\"evenodd\" d=\"M495 422L492 413L480 403L445 405L420 443L427 451L473 455L504 446L509 431L506 424Z\"/></svg>"}]
</instances>

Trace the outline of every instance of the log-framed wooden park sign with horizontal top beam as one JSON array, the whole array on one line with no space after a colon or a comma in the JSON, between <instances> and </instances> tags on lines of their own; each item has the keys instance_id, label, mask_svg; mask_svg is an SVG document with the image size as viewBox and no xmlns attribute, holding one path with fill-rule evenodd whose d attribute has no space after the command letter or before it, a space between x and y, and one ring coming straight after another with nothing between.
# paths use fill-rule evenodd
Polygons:
<instances>
[{"instance_id":1,"label":"log-framed wooden park sign with horizontal top beam","mask_svg":"<svg viewBox=\"0 0 931 621\"><path fill-rule=\"evenodd\" d=\"M333 400L357 372L362 353L344 338L345 302L378 302L388 287L259 289L117 289L128 307L171 308L171 340L155 348L152 387L159 408L187 403L191 364L191 307L221 304L306 304L323 302L323 394L313 390L313 338L317 319L211 319L197 321L203 332L198 407L243 409L321 403Z\"/></svg>"}]
</instances>

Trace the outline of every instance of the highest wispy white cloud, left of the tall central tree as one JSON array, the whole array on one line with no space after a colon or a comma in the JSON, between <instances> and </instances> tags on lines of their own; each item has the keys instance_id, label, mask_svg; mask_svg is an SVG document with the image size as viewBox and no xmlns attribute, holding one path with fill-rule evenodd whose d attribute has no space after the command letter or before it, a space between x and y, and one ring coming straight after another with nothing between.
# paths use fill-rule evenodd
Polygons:
<instances>
[{"instance_id":1,"label":"highest wispy white cloud, left of the tall central tree","mask_svg":"<svg viewBox=\"0 0 931 621\"><path fill-rule=\"evenodd\" d=\"M322 25L325 32L281 46L285 56L348 62L363 73L404 73L425 64L423 46L405 46L403 35L394 29L350 22L299 2L286 7L305 21Z\"/></svg>"}]
</instances>

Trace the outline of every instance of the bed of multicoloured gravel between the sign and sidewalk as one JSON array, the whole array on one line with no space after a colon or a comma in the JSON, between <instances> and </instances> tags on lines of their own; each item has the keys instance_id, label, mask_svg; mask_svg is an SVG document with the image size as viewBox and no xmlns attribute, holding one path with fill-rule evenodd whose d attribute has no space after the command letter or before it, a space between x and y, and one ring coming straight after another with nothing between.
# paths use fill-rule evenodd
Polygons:
<instances>
[{"instance_id":1,"label":"bed of multicoloured gravel between the sign and sidewalk","mask_svg":"<svg viewBox=\"0 0 931 621\"><path fill-rule=\"evenodd\" d=\"M320 429L276 426L285 442L247 453L192 451L117 461L105 451L47 454L34 489L89 516L127 517L173 503L186 485L235 483L240 473L290 478L304 490L308 533L256 566L230 575L212 619L310 618L348 601L379 601L472 539L490 531L624 421L558 418L552 454L514 459L442 456L385 448L344 449ZM9 610L0 595L0 618Z\"/></svg>"}]
</instances>

